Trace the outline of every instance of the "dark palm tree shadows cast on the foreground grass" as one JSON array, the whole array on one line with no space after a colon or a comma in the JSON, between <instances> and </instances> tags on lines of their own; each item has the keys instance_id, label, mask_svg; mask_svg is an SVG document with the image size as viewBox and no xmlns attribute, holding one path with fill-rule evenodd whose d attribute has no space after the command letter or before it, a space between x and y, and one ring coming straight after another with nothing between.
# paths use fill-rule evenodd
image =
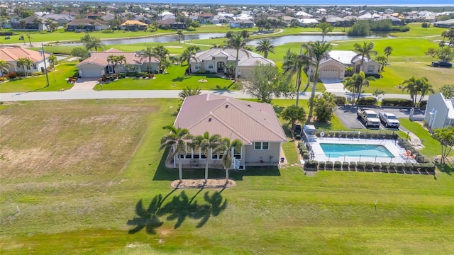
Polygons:
<instances>
[{"instance_id":1,"label":"dark palm tree shadows cast on the foreground grass","mask_svg":"<svg viewBox=\"0 0 454 255\"><path fill-rule=\"evenodd\" d=\"M180 227L188 218L200 220L196 227L202 227L208 222L211 216L218 216L227 208L227 200L221 196L221 191L216 191L213 195L209 195L207 191L204 194L204 202L197 203L196 197L201 193L201 188L197 193L189 198L182 191L179 195L174 196L169 203L163 205L168 198L176 190L174 189L164 198L162 195L157 195L151 200L148 209L143 206L143 201L140 199L135 205L135 214L132 220L128 220L127 225L135 226L128 231L129 234L135 234L145 228L147 234L156 234L156 229L164 224L160 217L167 215L166 220L176 220L174 228Z\"/></svg>"}]
</instances>

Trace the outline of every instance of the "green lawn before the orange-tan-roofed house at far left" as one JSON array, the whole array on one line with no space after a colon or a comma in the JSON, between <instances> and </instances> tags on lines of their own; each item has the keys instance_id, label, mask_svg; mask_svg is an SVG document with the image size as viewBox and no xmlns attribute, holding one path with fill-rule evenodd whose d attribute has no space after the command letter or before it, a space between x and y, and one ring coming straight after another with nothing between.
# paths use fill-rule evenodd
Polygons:
<instances>
[{"instance_id":1,"label":"green lawn before the orange-tan-roofed house at far left","mask_svg":"<svg viewBox=\"0 0 454 255\"><path fill-rule=\"evenodd\" d=\"M55 67L55 71L48 72L48 87L46 87L45 75L39 77L21 77L0 82L0 93L70 89L72 88L72 84L67 83L65 79L74 75L74 72L77 72L77 68L74 67L75 64L75 62L61 62Z\"/></svg>"}]
</instances>

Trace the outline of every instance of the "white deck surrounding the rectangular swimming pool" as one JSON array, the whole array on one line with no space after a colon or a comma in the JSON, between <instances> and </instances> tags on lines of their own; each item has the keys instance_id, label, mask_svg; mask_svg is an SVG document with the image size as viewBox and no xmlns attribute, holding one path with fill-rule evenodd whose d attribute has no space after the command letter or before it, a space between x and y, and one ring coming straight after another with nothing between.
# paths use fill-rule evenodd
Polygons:
<instances>
[{"instance_id":1,"label":"white deck surrounding the rectangular swimming pool","mask_svg":"<svg viewBox=\"0 0 454 255\"><path fill-rule=\"evenodd\" d=\"M321 143L330 144L354 144L354 145L383 145L389 152L394 155L394 158L389 157L328 157L321 149ZM319 162L326 161L340 161L340 162L387 162L387 163L416 163L416 160L409 159L403 154L405 149L397 145L395 140L377 140L377 139L358 139L358 138L326 138L319 137L316 140L310 142L312 151L314 152L314 160Z\"/></svg>"}]
</instances>

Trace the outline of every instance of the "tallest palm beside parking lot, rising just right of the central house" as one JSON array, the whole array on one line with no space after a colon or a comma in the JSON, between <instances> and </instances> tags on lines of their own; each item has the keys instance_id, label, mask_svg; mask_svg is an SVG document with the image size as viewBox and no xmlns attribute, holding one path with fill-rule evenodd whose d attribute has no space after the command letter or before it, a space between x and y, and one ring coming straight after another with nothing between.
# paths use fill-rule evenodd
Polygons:
<instances>
[{"instance_id":1,"label":"tallest palm beside parking lot, rising just right of the central house","mask_svg":"<svg viewBox=\"0 0 454 255\"><path fill-rule=\"evenodd\" d=\"M303 45L304 49L307 50L307 55L311 58L311 62L315 65L314 71L314 82L312 84L311 99L315 96L315 87L317 86L317 81L319 81L319 64L323 58L329 56L331 51L331 45L326 42L309 42ZM309 115L307 121L310 122L312 118L312 111L314 109L313 100L309 100Z\"/></svg>"}]
</instances>

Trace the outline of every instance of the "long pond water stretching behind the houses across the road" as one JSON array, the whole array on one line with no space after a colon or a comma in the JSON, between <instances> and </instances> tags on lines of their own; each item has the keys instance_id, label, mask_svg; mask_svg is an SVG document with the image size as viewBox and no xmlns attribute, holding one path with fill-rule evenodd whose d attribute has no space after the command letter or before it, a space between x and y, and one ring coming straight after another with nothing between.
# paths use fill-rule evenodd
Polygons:
<instances>
[{"instance_id":1,"label":"long pond water stretching behind the houses across the road","mask_svg":"<svg viewBox=\"0 0 454 255\"><path fill-rule=\"evenodd\" d=\"M192 35L184 35L184 40L186 42L190 42L191 40L204 40L210 38L223 38L226 36L226 33L203 33L203 34L192 34ZM377 37L389 37L387 34L377 34L371 35L367 38L377 38ZM326 41L332 40L350 40L350 39L358 39L358 38L365 38L361 36L349 36L349 35L331 35L325 36ZM227 40L227 38L225 38ZM284 45L290 42L311 42L321 40L321 35L284 35L280 37L270 38L270 41L273 45ZM157 37L150 37L150 38L131 38L131 39L118 39L118 40L106 40L104 41L104 45L130 45L133 43L150 43L150 42L177 42L178 35L162 35ZM248 45L256 46L258 45L259 40L251 40L248 42ZM183 43L183 42L182 42ZM82 43L61 43L60 46L81 46Z\"/></svg>"}]
</instances>

